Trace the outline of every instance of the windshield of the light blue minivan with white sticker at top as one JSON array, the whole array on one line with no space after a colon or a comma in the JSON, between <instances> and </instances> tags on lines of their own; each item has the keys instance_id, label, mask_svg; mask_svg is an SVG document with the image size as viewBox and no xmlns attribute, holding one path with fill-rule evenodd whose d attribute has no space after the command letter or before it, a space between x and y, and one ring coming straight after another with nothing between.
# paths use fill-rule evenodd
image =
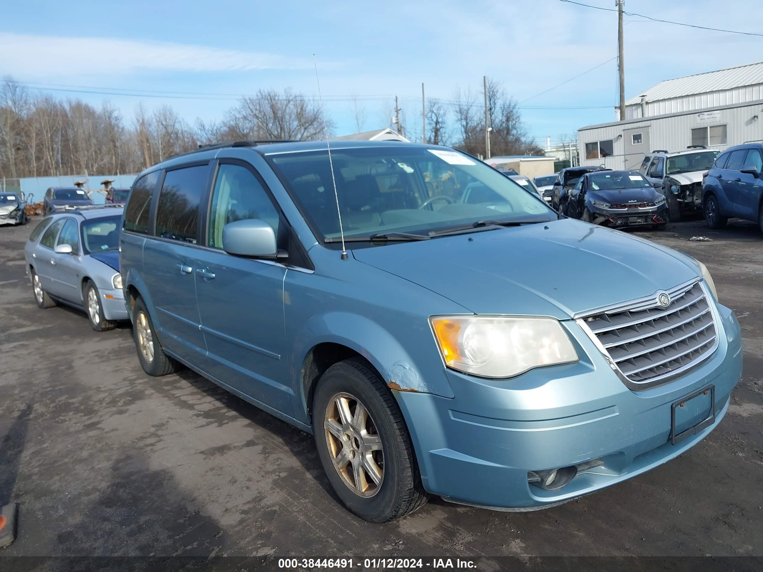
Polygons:
<instances>
[{"instance_id":1,"label":"windshield of the light blue minivan with white sticker at top","mask_svg":"<svg viewBox=\"0 0 763 572\"><path fill-rule=\"evenodd\" d=\"M331 158L345 237L391 231L428 237L484 221L538 223L557 218L538 194L457 151L401 144L332 149ZM274 154L268 159L319 239L338 239L326 151Z\"/></svg>"}]
</instances>

